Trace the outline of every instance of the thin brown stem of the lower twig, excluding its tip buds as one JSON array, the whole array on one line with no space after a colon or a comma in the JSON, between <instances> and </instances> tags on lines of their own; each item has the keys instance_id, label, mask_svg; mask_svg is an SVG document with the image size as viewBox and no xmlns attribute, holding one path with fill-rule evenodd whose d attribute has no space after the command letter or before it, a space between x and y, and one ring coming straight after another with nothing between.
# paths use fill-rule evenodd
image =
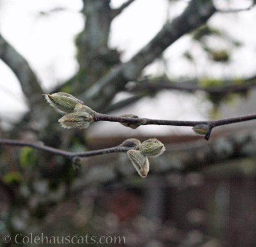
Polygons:
<instances>
[{"instance_id":1,"label":"thin brown stem of the lower twig, excluding its tip buds","mask_svg":"<svg viewBox=\"0 0 256 247\"><path fill-rule=\"evenodd\" d=\"M41 142L35 143L35 142L26 142L26 141L19 141L19 140L0 139L0 144L18 146L18 147L28 146L38 150L47 151L56 155L61 155L69 159L73 159L76 157L84 158L89 156L102 155L102 154L115 153L115 152L127 152L128 150L133 149L131 147L115 146L111 148L103 148L103 149L86 151L86 152L69 152L69 151L58 149L58 148L45 146Z\"/></svg>"}]
</instances>

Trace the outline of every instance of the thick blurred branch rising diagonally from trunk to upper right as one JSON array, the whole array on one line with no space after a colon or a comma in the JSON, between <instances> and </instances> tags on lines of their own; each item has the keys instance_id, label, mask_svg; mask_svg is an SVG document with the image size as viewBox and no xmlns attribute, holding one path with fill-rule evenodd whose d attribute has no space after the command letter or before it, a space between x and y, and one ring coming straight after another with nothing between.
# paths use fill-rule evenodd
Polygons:
<instances>
[{"instance_id":1,"label":"thick blurred branch rising diagonally from trunk to upper right","mask_svg":"<svg viewBox=\"0 0 256 247\"><path fill-rule=\"evenodd\" d=\"M203 25L216 11L210 0L191 0L185 11L162 30L130 61L119 64L97 82L95 82L81 99L96 110L103 110L117 92L128 81L135 80L146 65L157 58L170 44L185 33Z\"/></svg>"}]
</instances>

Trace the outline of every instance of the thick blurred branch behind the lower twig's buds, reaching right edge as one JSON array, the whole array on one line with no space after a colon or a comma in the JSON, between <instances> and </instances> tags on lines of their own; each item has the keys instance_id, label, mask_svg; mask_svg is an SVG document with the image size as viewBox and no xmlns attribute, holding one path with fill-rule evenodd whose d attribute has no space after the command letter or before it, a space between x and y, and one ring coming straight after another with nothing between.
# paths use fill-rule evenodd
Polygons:
<instances>
[{"instance_id":1,"label":"thick blurred branch behind the lower twig's buds, reaching right edge","mask_svg":"<svg viewBox=\"0 0 256 247\"><path fill-rule=\"evenodd\" d=\"M237 170L241 175L242 167L244 166L241 159L255 157L256 136L255 132L251 131L249 133L243 132L239 136L230 133L227 135L226 132L222 132L214 140L207 143L199 139L165 144L166 151L158 159L152 159L150 166L150 173L152 175L161 175L161 179L164 179L163 177L166 176L166 179L170 181L169 175L177 171L191 172L201 170L201 172L204 172L207 167L218 166L225 162L232 164L232 167L233 165L241 166L241 169ZM83 170L85 177L77 177L76 181L72 184L72 193L88 187L91 183L117 183L118 179L123 179L123 177L133 174L132 168L129 168L128 159L126 162L122 159L122 162L125 162L123 166L127 167L127 170L122 169L122 166L108 166L108 172L113 174L108 177L99 172L104 169L102 159L93 159L91 162L94 165L90 167L90 170L86 170L86 168ZM97 174L97 176L94 174ZM222 175L225 176L225 174Z\"/></svg>"}]
</instances>

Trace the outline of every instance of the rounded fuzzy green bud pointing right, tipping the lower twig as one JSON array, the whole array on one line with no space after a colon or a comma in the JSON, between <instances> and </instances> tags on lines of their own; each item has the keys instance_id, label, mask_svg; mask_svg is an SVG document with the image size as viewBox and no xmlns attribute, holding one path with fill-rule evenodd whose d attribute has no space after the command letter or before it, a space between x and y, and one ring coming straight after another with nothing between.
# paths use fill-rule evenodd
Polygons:
<instances>
[{"instance_id":1,"label":"rounded fuzzy green bud pointing right, tipping the lower twig","mask_svg":"<svg viewBox=\"0 0 256 247\"><path fill-rule=\"evenodd\" d=\"M139 150L145 156L156 157L164 152L165 147L160 141L152 138L142 142L139 146Z\"/></svg>"}]
</instances>

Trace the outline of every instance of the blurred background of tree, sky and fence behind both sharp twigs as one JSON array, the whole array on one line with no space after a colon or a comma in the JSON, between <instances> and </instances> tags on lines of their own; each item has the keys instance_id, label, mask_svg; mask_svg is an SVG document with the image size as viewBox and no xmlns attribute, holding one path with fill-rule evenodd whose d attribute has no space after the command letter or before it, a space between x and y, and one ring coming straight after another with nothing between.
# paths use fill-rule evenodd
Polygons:
<instances>
[{"instance_id":1,"label":"blurred background of tree, sky and fence behind both sharp twigs","mask_svg":"<svg viewBox=\"0 0 256 247\"><path fill-rule=\"evenodd\" d=\"M1 138L74 152L127 138L166 146L141 178L126 153L83 159L75 171L61 156L0 144L0 244L43 233L123 236L126 246L256 245L255 121L220 126L208 142L190 127L67 130L42 96L67 92L99 113L152 119L255 113L254 5L0 0Z\"/></svg>"}]
</instances>

